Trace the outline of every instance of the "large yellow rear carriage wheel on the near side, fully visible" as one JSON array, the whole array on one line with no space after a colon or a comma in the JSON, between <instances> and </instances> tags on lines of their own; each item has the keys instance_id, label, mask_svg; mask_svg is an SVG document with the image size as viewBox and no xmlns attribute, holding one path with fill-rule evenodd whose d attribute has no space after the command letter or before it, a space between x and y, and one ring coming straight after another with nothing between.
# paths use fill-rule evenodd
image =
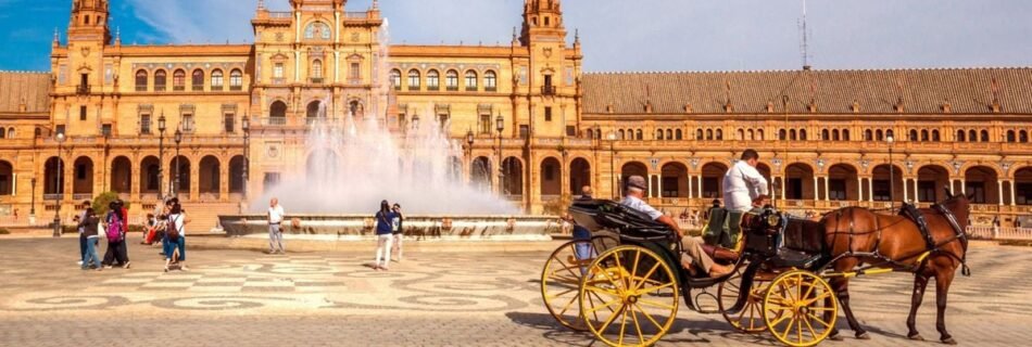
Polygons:
<instances>
[{"instance_id":1,"label":"large yellow rear carriage wheel on the near side, fully visible","mask_svg":"<svg viewBox=\"0 0 1032 347\"><path fill-rule=\"evenodd\" d=\"M591 262L580 286L580 311L606 345L650 346L674 324L679 296L667 261L644 247L619 246Z\"/></svg>"}]
</instances>

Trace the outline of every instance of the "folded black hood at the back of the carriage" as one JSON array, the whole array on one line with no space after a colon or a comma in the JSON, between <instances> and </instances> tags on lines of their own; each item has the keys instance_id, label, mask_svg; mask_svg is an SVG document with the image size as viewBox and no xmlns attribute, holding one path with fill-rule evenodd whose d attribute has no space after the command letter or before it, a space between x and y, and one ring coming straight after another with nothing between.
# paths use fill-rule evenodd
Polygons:
<instances>
[{"instance_id":1,"label":"folded black hood at the back of the carriage","mask_svg":"<svg viewBox=\"0 0 1032 347\"><path fill-rule=\"evenodd\" d=\"M578 224L591 231L614 230L620 234L620 237L637 241L670 240L674 233L666 224L614 201L576 201L570 205L569 213Z\"/></svg>"}]
</instances>

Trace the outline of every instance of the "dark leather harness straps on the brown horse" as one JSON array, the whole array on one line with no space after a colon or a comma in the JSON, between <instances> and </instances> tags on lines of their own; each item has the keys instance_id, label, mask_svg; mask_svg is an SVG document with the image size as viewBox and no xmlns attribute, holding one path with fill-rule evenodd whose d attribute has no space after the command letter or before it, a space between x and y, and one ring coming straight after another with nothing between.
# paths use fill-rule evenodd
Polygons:
<instances>
[{"instance_id":1,"label":"dark leather harness straps on the brown horse","mask_svg":"<svg viewBox=\"0 0 1032 347\"><path fill-rule=\"evenodd\" d=\"M917 264L916 266L908 266L908 265L905 265L905 264L903 264L902 261L893 260L893 259L891 259L891 258L889 258L889 257L886 257L886 256L884 256L884 255L881 254L881 252L879 250L879 245L881 244L882 228L881 228L880 226L878 226L878 219L874 219L874 231L872 231L873 233L877 233L877 235L876 235L876 237L874 237L874 247L873 247L874 250L873 250L873 252L856 252L856 250L854 250L854 249L853 249L853 236L856 234L856 231L855 231L855 228L854 228L854 218L852 218L852 217L853 217L853 216L852 216L852 214L853 214L853 210L852 210L852 209L849 210L849 214L851 214L849 217L851 217L851 218L848 219L848 220L849 220L849 232L846 233L846 234L848 235L848 237L849 237L849 242L848 242L848 247L849 247L849 249L848 249L846 253L844 253L844 254L842 254L842 255L839 255L839 256L835 257L834 259L831 259L831 261L828 261L828 265L835 264L839 259L846 258L846 257L870 257L870 258L876 258L876 259L882 260L882 261L883 261L883 262L882 262L883 265L889 265L889 264L891 264L891 265L894 265L894 266L897 266L897 267L909 268L910 271L913 271L913 272L918 272L918 271L922 270L922 269L924 268L924 266L928 264L928 258L929 258L930 255L932 255L932 254L943 254L943 255L946 255L946 256L948 256L948 257L951 257L951 258L954 258L955 260L957 260L957 261L960 262L960 266L961 266L960 273L961 273L962 275L966 275L966 277L971 275L971 269L968 268L968 265L967 265L968 239L967 239L967 234L964 232L964 229L960 228L960 223L957 221L957 217L954 216L954 214L953 214L949 209L947 209L945 206L943 206L943 205L941 205L941 204L932 205L932 208L933 208L935 211L937 211L937 213L940 213L940 214L943 215L943 217L944 217L944 218L946 219L946 221L949 223L949 227L953 228L953 230L954 230L954 236L951 236L949 239L944 240L944 241L942 241L942 242L940 242L940 243L935 243L934 239L932 237L931 232L930 232L929 229L928 229L928 219L924 218L924 214L921 213L920 209L918 209L918 208L917 208L916 206L914 206L913 204L903 204L903 208L901 209L901 213L899 213L899 215L902 215L903 217L906 217L908 220L910 220L911 222L914 222L914 223L917 226L918 230L920 230L920 232L921 232L921 236L923 236L923 239L924 239L924 248L926 248L924 252L922 252L922 253L920 253L920 254L910 255L910 256L907 256L907 257L904 257L904 258L903 258L903 259L910 259L910 258L918 257L919 259L918 259L918 264ZM839 217L840 219L842 218L842 211L843 211L842 209L840 209L840 210L836 211L838 217ZM835 233L834 233L835 237L838 237L839 233L840 233L840 232L835 231ZM868 232L868 233L871 233L871 232ZM958 241L958 240L960 241L960 245L961 245L961 247L962 247L962 254L961 254L959 257L958 257L957 255L954 255L953 253L942 252L942 246L943 246L943 245L946 245L946 244L948 244L948 243L951 243L951 242ZM833 243L834 243L834 241L832 241L832 244L833 244Z\"/></svg>"}]
</instances>

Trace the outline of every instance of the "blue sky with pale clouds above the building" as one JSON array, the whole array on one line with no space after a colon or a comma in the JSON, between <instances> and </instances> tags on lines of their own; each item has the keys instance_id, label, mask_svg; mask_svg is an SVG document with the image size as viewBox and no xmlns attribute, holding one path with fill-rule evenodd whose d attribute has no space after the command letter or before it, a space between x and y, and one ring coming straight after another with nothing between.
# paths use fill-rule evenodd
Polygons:
<instances>
[{"instance_id":1,"label":"blue sky with pale clouds above the building","mask_svg":"<svg viewBox=\"0 0 1032 347\"><path fill-rule=\"evenodd\" d=\"M257 0L112 0L124 44L244 42ZM288 0L266 0L287 9ZM349 1L363 11L372 0ZM0 0L0 69L49 69L72 0ZM380 0L394 42L506 43L521 0ZM564 0L586 69L793 69L802 0ZM816 68L1032 65L1032 1L810 0ZM13 52L14 54L10 54Z\"/></svg>"}]
</instances>

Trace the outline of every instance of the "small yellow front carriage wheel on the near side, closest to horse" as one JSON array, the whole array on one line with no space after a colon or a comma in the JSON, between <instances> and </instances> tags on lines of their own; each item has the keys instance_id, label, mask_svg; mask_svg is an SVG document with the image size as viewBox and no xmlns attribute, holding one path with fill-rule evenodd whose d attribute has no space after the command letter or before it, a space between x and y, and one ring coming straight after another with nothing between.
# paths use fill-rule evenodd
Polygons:
<instances>
[{"instance_id":1,"label":"small yellow front carriage wheel on the near side, closest to horse","mask_svg":"<svg viewBox=\"0 0 1032 347\"><path fill-rule=\"evenodd\" d=\"M782 273L764 296L767 330L782 344L814 346L831 334L839 314L839 301L831 285L813 272Z\"/></svg>"}]
</instances>

